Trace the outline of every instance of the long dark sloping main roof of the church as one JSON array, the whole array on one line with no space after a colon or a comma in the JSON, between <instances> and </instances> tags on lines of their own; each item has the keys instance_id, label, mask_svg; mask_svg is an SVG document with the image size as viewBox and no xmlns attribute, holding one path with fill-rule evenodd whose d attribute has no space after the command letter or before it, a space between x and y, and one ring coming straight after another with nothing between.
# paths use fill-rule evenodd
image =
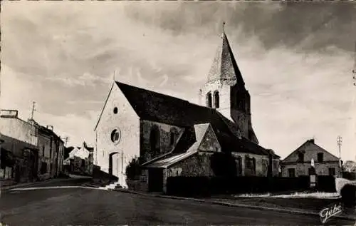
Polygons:
<instances>
[{"instance_id":1,"label":"long dark sloping main roof of the church","mask_svg":"<svg viewBox=\"0 0 356 226\"><path fill-rule=\"evenodd\" d=\"M189 103L189 101L130 86L125 83L116 82L116 84L142 120L152 120L157 123L181 126L187 128L187 132L189 128L191 128L190 130L194 130L194 125L210 123L222 150L231 150L231 147L239 147L239 152L268 155L266 149L253 143L251 140L246 138L239 139L236 135L236 130L234 130L236 125L224 118L224 115L221 115L214 108L198 106L194 103ZM189 133L183 135L187 136L187 138L190 137ZM190 143L189 145L192 144ZM187 146L182 145L179 149L185 151L187 150Z\"/></svg>"}]
</instances>

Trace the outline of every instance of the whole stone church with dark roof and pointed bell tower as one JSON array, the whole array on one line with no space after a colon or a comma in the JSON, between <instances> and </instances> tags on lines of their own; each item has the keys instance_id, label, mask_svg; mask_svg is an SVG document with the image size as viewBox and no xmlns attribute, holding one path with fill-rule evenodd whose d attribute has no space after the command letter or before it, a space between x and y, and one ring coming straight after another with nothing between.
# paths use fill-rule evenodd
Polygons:
<instances>
[{"instance_id":1,"label":"whole stone church with dark roof and pointed bell tower","mask_svg":"<svg viewBox=\"0 0 356 226\"><path fill-rule=\"evenodd\" d=\"M174 176L278 175L280 157L258 145L250 94L224 32L199 99L114 81L95 125L95 165L126 187L125 168L139 158L152 191Z\"/></svg>"}]
</instances>

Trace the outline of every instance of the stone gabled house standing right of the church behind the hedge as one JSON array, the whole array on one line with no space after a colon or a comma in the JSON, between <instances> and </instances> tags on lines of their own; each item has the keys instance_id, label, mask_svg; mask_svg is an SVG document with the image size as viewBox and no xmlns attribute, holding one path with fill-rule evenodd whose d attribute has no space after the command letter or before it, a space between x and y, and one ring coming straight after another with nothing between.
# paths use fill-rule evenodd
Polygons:
<instances>
[{"instance_id":1,"label":"stone gabled house standing right of the church behind the hedge","mask_svg":"<svg viewBox=\"0 0 356 226\"><path fill-rule=\"evenodd\" d=\"M340 160L324 148L315 144L315 140L307 140L303 145L281 160L283 177L298 177L309 175L311 160L314 160L317 175L333 175L340 177Z\"/></svg>"}]
</instances>

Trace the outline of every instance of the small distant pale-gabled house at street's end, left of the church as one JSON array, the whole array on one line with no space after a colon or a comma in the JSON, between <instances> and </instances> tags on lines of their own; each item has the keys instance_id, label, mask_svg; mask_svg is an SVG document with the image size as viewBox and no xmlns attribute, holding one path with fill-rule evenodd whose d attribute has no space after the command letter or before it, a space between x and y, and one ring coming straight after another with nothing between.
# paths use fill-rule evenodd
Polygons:
<instances>
[{"instance_id":1,"label":"small distant pale-gabled house at street's end, left of the church","mask_svg":"<svg viewBox=\"0 0 356 226\"><path fill-rule=\"evenodd\" d=\"M93 150L83 142L82 147L69 147L68 158L64 160L68 173L92 174L93 173Z\"/></svg>"}]
</instances>

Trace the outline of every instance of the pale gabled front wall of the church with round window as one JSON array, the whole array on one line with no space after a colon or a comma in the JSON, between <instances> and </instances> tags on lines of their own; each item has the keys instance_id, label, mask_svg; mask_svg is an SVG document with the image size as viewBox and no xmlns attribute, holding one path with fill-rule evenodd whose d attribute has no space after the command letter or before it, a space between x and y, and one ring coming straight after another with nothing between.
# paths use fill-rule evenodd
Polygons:
<instances>
[{"instance_id":1,"label":"pale gabled front wall of the church with round window","mask_svg":"<svg viewBox=\"0 0 356 226\"><path fill-rule=\"evenodd\" d=\"M112 141L114 130L120 133L116 142ZM117 152L112 155L112 174L126 187L125 168L140 156L140 118L115 83L95 126L95 136L94 164L108 173L110 153Z\"/></svg>"}]
</instances>

